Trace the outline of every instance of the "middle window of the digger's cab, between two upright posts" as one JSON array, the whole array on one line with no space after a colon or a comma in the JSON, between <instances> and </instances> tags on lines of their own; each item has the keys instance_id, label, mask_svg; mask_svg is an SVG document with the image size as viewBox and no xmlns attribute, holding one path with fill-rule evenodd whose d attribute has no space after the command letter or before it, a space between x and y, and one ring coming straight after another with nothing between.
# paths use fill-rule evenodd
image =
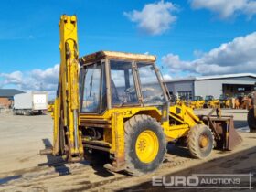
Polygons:
<instances>
[{"instance_id":1,"label":"middle window of the digger's cab, between two upright posts","mask_svg":"<svg viewBox=\"0 0 256 192\"><path fill-rule=\"evenodd\" d=\"M111 60L112 105L138 103L132 62Z\"/></svg>"}]
</instances>

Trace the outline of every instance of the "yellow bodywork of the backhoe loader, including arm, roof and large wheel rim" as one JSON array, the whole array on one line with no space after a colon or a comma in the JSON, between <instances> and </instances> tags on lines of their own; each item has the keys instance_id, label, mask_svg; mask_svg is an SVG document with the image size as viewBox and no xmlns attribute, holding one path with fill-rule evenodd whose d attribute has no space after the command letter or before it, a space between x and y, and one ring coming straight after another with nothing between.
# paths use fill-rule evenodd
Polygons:
<instances>
[{"instance_id":1,"label":"yellow bodywork of the backhoe loader, including arm, roof and large wheel rim","mask_svg":"<svg viewBox=\"0 0 256 192\"><path fill-rule=\"evenodd\" d=\"M59 67L59 88L54 104L53 155L67 155L69 161L72 161L73 157L83 157L84 147L106 150L114 156L112 165L119 168L125 165L124 123L134 115L145 114L155 118L161 124L167 142L187 136L190 128L198 123L202 123L193 110L182 102L170 106L163 111L160 111L156 106L142 105L119 108L108 106L107 110L101 114L81 113L79 110L79 62L76 16L61 16L59 32L61 62ZM137 59L155 62L155 56L111 51L97 54L83 57L81 61L85 64L90 64L97 57L102 59L109 57L113 59ZM101 55L99 56L99 54ZM107 83L110 84L110 80L107 80ZM110 92L108 93L110 94ZM100 129L103 132L100 140L91 141L86 136L82 137L82 131L90 127ZM142 162L150 162L155 158L157 143L154 141L154 133L145 132L139 136L136 150ZM150 149L143 151L142 147L144 144L150 146Z\"/></svg>"}]
</instances>

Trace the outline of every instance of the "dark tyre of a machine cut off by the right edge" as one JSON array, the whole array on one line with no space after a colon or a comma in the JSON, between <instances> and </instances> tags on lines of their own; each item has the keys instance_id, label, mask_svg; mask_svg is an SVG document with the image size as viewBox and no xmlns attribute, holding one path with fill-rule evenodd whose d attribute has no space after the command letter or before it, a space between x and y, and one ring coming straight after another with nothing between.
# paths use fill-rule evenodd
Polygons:
<instances>
[{"instance_id":1,"label":"dark tyre of a machine cut off by the right edge","mask_svg":"<svg viewBox=\"0 0 256 192\"><path fill-rule=\"evenodd\" d=\"M256 133L256 92L251 95L251 109L247 115L247 122L251 133Z\"/></svg>"}]
</instances>

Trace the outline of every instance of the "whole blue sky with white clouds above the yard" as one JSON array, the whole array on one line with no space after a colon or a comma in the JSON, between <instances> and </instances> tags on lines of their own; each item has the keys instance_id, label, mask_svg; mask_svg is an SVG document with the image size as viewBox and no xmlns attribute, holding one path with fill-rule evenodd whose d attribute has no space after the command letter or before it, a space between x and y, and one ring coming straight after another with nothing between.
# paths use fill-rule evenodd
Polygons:
<instances>
[{"instance_id":1,"label":"whole blue sky with white clouds above the yard","mask_svg":"<svg viewBox=\"0 0 256 192\"><path fill-rule=\"evenodd\" d=\"M254 0L0 0L0 88L55 94L59 17L78 16L80 56L157 56L165 79L256 73Z\"/></svg>"}]
</instances>

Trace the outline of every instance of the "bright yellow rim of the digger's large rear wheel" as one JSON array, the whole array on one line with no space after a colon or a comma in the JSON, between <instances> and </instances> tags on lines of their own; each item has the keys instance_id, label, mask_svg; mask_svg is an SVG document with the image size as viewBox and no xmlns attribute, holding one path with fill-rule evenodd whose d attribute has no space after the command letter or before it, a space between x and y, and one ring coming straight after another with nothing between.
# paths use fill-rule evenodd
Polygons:
<instances>
[{"instance_id":1,"label":"bright yellow rim of the digger's large rear wheel","mask_svg":"<svg viewBox=\"0 0 256 192\"><path fill-rule=\"evenodd\" d=\"M152 162L159 149L159 142L154 132L146 130L137 137L135 150L136 155L143 163Z\"/></svg>"}]
</instances>

